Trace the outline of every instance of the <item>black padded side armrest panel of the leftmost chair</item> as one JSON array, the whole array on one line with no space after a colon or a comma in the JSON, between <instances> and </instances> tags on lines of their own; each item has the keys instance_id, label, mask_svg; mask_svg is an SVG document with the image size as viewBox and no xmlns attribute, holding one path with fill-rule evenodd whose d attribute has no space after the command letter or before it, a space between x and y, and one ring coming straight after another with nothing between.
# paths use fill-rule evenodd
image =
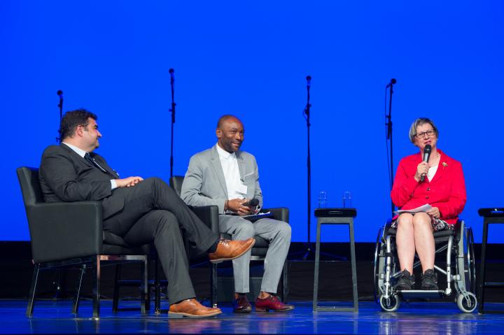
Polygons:
<instances>
[{"instance_id":1,"label":"black padded side armrest panel of the leftmost chair","mask_svg":"<svg viewBox=\"0 0 504 335\"><path fill-rule=\"evenodd\" d=\"M34 204L27 208L27 217L35 263L102 251L102 204L98 201Z\"/></svg>"}]
</instances>

